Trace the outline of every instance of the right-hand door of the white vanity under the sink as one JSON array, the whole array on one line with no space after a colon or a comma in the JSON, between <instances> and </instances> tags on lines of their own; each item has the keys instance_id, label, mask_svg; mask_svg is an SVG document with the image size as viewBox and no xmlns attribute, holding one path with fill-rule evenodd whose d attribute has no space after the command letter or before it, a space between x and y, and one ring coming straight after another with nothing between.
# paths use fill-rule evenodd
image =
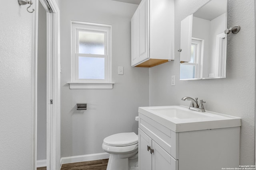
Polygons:
<instances>
[{"instance_id":1,"label":"right-hand door of the white vanity under the sink","mask_svg":"<svg viewBox=\"0 0 256 170\"><path fill-rule=\"evenodd\" d=\"M178 160L172 158L155 141L152 141L152 170L178 170Z\"/></svg>"}]
</instances>

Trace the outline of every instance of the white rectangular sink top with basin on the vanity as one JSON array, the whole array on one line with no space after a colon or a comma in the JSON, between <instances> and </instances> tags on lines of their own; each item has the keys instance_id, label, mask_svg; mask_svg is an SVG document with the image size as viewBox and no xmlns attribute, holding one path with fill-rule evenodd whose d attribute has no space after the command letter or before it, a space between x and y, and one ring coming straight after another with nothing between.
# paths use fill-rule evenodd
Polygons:
<instances>
[{"instance_id":1,"label":"white rectangular sink top with basin on the vanity","mask_svg":"<svg viewBox=\"0 0 256 170\"><path fill-rule=\"evenodd\" d=\"M174 132L241 126L241 119L212 111L198 112L185 106L139 107L139 113Z\"/></svg>"}]
</instances>

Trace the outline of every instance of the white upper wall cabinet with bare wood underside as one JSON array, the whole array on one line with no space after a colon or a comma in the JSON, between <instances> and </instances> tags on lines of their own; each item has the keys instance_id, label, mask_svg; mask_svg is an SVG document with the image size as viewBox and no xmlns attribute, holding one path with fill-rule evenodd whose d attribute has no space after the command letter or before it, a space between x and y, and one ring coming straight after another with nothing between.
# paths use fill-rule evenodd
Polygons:
<instances>
[{"instance_id":1,"label":"white upper wall cabinet with bare wood underside","mask_svg":"<svg viewBox=\"0 0 256 170\"><path fill-rule=\"evenodd\" d=\"M174 60L174 0L142 0L131 20L132 66Z\"/></svg>"}]
</instances>

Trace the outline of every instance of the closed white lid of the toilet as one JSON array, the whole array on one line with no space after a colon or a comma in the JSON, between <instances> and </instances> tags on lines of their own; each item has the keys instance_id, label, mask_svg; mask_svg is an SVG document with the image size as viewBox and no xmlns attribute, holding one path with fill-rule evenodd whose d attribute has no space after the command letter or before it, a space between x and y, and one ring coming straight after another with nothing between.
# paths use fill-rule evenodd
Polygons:
<instances>
[{"instance_id":1,"label":"closed white lid of the toilet","mask_svg":"<svg viewBox=\"0 0 256 170\"><path fill-rule=\"evenodd\" d=\"M106 137L103 140L103 143L105 145L117 146L117 147L134 145L138 143L138 135L136 135L134 132L117 133L117 134Z\"/></svg>"}]
</instances>

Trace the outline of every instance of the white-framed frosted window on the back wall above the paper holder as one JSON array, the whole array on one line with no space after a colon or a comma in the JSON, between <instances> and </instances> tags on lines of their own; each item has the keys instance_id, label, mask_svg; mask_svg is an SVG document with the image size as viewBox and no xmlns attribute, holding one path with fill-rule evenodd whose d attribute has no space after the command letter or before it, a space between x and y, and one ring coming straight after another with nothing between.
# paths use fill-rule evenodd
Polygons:
<instances>
[{"instance_id":1,"label":"white-framed frosted window on the back wall above the paper holder","mask_svg":"<svg viewBox=\"0 0 256 170\"><path fill-rule=\"evenodd\" d=\"M111 83L111 26L72 22L72 82L80 88ZM96 87L92 87L92 86ZM100 86L100 87L99 87ZM82 88L82 89L84 89Z\"/></svg>"}]
</instances>

